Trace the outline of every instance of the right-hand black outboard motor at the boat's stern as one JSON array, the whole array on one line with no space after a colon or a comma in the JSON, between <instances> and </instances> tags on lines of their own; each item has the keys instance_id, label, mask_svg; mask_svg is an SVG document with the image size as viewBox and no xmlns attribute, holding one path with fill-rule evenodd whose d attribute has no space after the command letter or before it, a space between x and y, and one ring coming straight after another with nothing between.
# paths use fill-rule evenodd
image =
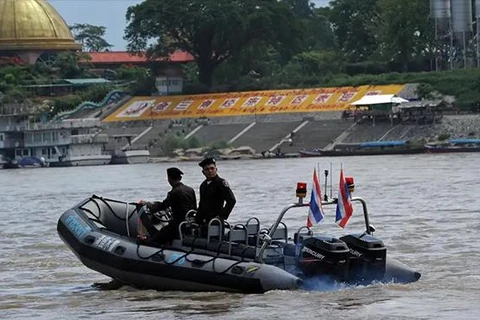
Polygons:
<instances>
[{"instance_id":1,"label":"right-hand black outboard motor at the boat's stern","mask_svg":"<svg viewBox=\"0 0 480 320\"><path fill-rule=\"evenodd\" d=\"M366 233L350 234L340 239L350 250L348 281L368 283L383 280L387 261L387 248L383 241Z\"/></svg>"}]
</instances>

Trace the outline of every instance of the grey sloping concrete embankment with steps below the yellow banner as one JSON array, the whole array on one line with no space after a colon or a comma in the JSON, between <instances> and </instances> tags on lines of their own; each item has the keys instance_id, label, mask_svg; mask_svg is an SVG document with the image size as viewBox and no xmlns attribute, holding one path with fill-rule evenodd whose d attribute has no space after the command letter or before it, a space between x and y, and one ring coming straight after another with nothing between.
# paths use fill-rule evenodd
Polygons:
<instances>
[{"instance_id":1,"label":"grey sloping concrete embankment with steps below the yellow banner","mask_svg":"<svg viewBox=\"0 0 480 320\"><path fill-rule=\"evenodd\" d=\"M109 124L106 131L112 137L123 133L139 136L134 147L149 148L152 155L161 155L168 135L194 137L202 145L225 141L231 147L249 146L257 154L280 148L288 154L299 150L325 148L334 143L416 140L435 141L443 138L480 137L480 115L446 115L435 124L395 124L369 121L354 123L341 120L340 113L283 114L262 117L226 117L207 119L202 122L192 119L169 122L167 120L131 121L119 125ZM114 141L115 139L111 139ZM125 141L121 142L122 146ZM162 158L162 161L166 159Z\"/></svg>"}]
</instances>

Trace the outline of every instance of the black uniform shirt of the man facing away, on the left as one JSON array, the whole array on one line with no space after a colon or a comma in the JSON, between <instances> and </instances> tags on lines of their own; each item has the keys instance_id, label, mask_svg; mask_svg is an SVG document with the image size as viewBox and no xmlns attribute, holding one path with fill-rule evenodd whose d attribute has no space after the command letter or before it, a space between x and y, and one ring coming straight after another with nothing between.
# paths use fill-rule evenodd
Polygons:
<instances>
[{"instance_id":1,"label":"black uniform shirt of the man facing away, on the left","mask_svg":"<svg viewBox=\"0 0 480 320\"><path fill-rule=\"evenodd\" d=\"M167 197L162 202L155 202L151 208L153 212L172 208L172 219L175 223L185 220L185 214L189 210L197 209L195 190L179 182L172 187Z\"/></svg>"}]
</instances>

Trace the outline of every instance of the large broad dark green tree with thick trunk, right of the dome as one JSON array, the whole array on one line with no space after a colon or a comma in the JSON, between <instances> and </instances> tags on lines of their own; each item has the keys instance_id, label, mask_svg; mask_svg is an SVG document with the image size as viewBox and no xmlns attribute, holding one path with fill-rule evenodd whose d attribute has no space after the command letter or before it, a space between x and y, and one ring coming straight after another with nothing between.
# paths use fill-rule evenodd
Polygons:
<instances>
[{"instance_id":1,"label":"large broad dark green tree with thick trunk, right of the dome","mask_svg":"<svg viewBox=\"0 0 480 320\"><path fill-rule=\"evenodd\" d=\"M301 24L284 1L146 0L126 16L130 51L148 48L149 55L163 56L185 50L208 88L217 67L250 45L273 45L286 60L302 46Z\"/></svg>"}]
</instances>

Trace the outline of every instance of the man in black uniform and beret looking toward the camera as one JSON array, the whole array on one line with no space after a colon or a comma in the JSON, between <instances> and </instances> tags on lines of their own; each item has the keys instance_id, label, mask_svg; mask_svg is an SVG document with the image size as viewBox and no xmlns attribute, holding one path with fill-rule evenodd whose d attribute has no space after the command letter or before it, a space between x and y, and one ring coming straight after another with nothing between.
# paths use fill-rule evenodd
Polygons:
<instances>
[{"instance_id":1,"label":"man in black uniform and beret looking toward the camera","mask_svg":"<svg viewBox=\"0 0 480 320\"><path fill-rule=\"evenodd\" d=\"M230 185L227 180L220 178L217 174L215 159L206 158L198 165L202 167L202 173L206 179L200 185L197 223L207 226L214 218L227 220L237 202Z\"/></svg>"}]
</instances>

